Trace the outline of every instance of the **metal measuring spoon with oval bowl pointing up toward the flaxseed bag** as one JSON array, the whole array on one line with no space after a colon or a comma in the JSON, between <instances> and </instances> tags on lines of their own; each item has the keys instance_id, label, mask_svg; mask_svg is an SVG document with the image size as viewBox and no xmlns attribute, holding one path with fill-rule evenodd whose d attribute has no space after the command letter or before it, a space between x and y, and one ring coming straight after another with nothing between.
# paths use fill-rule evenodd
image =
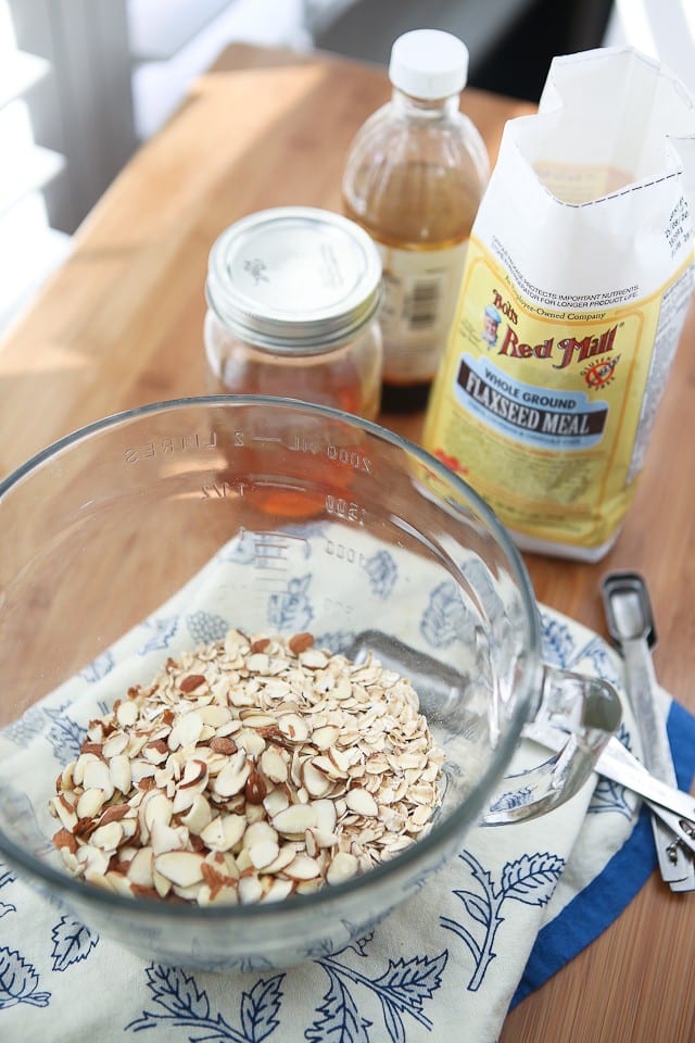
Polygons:
<instances>
[{"instance_id":1,"label":"metal measuring spoon with oval bowl pointing up toward the flaxseed bag","mask_svg":"<svg viewBox=\"0 0 695 1043\"><path fill-rule=\"evenodd\" d=\"M639 573L608 573L602 583L608 632L624 659L628 698L642 738L646 768L669 786L677 787L675 769L658 705L657 680L650 649L656 628L644 578ZM662 879L672 891L695 890L695 863L690 851L652 807L652 828Z\"/></svg>"}]
</instances>

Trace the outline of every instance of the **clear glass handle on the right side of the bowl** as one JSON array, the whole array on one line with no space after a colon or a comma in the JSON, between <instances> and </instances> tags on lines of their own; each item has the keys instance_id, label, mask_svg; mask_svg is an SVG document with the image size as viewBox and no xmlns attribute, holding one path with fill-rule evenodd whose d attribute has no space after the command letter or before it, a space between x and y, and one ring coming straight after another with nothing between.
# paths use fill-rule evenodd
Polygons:
<instances>
[{"instance_id":1,"label":"clear glass handle on the right side of the bowl","mask_svg":"<svg viewBox=\"0 0 695 1043\"><path fill-rule=\"evenodd\" d=\"M481 825L527 821L565 804L591 776L621 713L620 696L608 681L545 665L540 706L523 736L554 755L505 776Z\"/></svg>"}]
</instances>

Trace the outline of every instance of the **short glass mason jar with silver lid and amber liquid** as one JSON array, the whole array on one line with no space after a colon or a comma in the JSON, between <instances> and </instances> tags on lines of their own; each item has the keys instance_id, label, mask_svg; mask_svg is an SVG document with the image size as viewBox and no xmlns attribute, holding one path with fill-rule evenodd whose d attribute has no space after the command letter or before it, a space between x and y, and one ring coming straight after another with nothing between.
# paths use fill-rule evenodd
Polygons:
<instances>
[{"instance_id":1,"label":"short glass mason jar with silver lid and amber liquid","mask_svg":"<svg viewBox=\"0 0 695 1043\"><path fill-rule=\"evenodd\" d=\"M283 206L213 244L205 285L210 393L274 394L375 419L381 261L354 222Z\"/></svg>"}]
</instances>

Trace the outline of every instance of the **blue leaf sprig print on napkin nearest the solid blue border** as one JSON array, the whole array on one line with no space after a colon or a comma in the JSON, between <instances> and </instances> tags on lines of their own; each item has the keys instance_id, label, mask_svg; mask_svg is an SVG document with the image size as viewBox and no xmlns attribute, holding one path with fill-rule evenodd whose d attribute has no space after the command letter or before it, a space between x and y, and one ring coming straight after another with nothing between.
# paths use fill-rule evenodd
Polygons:
<instances>
[{"instance_id":1,"label":"blue leaf sprig print on napkin nearest the solid blue border","mask_svg":"<svg viewBox=\"0 0 695 1043\"><path fill-rule=\"evenodd\" d=\"M488 967L497 956L493 944L495 934L504 916L501 909L507 899L516 899L525 905L546 905L553 895L557 881L565 868L565 859L549 852L536 852L522 855L515 862L508 862L503 870L500 885L496 885L490 872L480 865L469 851L458 856L470 869L478 887L476 891L455 890L452 893L463 903L466 913L475 925L467 926L451 917L440 917L442 927L457 934L468 946L475 962L475 970L468 982L469 992L476 992L482 984Z\"/></svg>"}]
</instances>

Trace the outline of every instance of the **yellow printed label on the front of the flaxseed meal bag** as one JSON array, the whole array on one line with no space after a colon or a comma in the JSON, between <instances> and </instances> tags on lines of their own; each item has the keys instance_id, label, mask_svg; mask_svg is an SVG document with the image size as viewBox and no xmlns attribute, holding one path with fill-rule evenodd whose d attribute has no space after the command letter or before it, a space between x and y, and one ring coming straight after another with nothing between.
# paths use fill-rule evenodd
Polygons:
<instances>
[{"instance_id":1,"label":"yellow printed label on the front of the flaxseed meal bag","mask_svg":"<svg viewBox=\"0 0 695 1043\"><path fill-rule=\"evenodd\" d=\"M471 238L425 447L521 546L599 556L634 493L672 360L660 348L691 288L688 261L639 301L626 287L595 309L559 293L540 304Z\"/></svg>"}]
</instances>

